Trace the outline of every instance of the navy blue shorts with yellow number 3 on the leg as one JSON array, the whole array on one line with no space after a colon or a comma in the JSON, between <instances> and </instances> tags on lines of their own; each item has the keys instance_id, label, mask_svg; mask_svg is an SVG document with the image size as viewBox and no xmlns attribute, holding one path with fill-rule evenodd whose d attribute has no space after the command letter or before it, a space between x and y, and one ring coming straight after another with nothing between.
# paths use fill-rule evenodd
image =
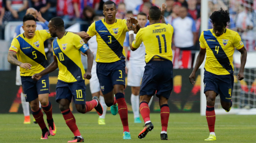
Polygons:
<instances>
[{"instance_id":1,"label":"navy blue shorts with yellow number 3 on the leg","mask_svg":"<svg viewBox=\"0 0 256 143\"><path fill-rule=\"evenodd\" d=\"M96 73L103 94L112 91L115 84L124 85L125 87L124 59L113 63L97 63Z\"/></svg>"}]
</instances>

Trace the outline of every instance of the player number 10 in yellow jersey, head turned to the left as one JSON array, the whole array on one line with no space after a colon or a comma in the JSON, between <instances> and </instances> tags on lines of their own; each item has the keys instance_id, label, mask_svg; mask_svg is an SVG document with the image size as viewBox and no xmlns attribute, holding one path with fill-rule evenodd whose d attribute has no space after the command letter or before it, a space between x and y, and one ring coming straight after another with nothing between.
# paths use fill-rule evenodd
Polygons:
<instances>
[{"instance_id":1,"label":"player number 10 in yellow jersey, head turned to the left","mask_svg":"<svg viewBox=\"0 0 256 143\"><path fill-rule=\"evenodd\" d=\"M54 61L45 70L33 75L32 78L38 81L59 67L56 102L60 104L60 110L67 126L74 133L74 139L68 143L84 142L69 105L73 97L78 112L84 114L95 108L97 113L102 115L103 109L98 97L95 96L92 101L85 102L86 86L84 79L91 78L94 56L83 39L72 32L65 31L64 21L60 17L52 18L48 27L51 36L57 37L53 41ZM81 62L81 52L88 57L87 73L85 73Z\"/></svg>"}]
</instances>

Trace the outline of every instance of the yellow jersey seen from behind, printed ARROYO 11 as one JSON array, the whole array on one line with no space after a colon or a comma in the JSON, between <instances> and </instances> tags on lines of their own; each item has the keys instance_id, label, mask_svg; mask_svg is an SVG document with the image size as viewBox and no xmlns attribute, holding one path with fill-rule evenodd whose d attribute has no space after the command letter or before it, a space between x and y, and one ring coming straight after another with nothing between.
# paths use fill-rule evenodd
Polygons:
<instances>
[{"instance_id":1,"label":"yellow jersey seen from behind, printed ARROYO 11","mask_svg":"<svg viewBox=\"0 0 256 143\"><path fill-rule=\"evenodd\" d=\"M170 24L155 23L141 28L133 41L133 48L139 48L141 42L146 48L145 61L152 58L165 58L172 61L173 26Z\"/></svg>"}]
</instances>

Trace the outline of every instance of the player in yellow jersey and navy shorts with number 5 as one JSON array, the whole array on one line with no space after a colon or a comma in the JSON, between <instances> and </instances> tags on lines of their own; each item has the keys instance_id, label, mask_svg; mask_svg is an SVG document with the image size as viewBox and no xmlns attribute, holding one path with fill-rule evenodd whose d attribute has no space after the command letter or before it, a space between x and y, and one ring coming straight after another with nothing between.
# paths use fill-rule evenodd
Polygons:
<instances>
[{"instance_id":1,"label":"player in yellow jersey and navy shorts with number 5","mask_svg":"<svg viewBox=\"0 0 256 143\"><path fill-rule=\"evenodd\" d=\"M31 76L39 73L47 67L47 59L44 51L44 41L51 38L47 30L36 30L35 18L31 14L23 17L24 33L13 39L8 52L8 62L20 66L21 83L26 102L29 102L32 114L42 130L41 139L47 139L51 134L56 134L56 127L52 117L52 104L48 101L49 75L43 76L35 82ZM17 55L18 60L15 58ZM46 113L49 130L43 118Z\"/></svg>"}]
</instances>

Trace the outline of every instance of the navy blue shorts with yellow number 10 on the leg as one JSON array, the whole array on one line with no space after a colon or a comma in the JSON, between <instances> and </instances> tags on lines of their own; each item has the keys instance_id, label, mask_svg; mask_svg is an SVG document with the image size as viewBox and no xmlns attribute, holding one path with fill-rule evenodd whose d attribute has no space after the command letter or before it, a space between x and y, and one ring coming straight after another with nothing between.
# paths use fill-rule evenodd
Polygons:
<instances>
[{"instance_id":1,"label":"navy blue shorts with yellow number 10 on the leg","mask_svg":"<svg viewBox=\"0 0 256 143\"><path fill-rule=\"evenodd\" d=\"M74 100L74 104L85 104L86 86L84 80L66 83L58 80L56 85L56 102L61 99Z\"/></svg>"}]
</instances>

